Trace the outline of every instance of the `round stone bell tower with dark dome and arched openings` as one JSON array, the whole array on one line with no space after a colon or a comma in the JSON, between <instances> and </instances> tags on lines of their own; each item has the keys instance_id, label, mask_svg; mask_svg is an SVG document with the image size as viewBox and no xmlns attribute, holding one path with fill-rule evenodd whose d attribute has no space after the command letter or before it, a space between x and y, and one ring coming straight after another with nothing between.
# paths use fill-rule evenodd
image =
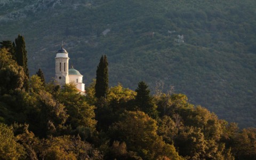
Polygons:
<instances>
[{"instance_id":1,"label":"round stone bell tower with dark dome and arched openings","mask_svg":"<svg viewBox=\"0 0 256 160\"><path fill-rule=\"evenodd\" d=\"M60 86L69 83L68 60L68 52L63 49L62 44L61 49L56 52L55 57L55 80L59 83Z\"/></svg>"}]
</instances>

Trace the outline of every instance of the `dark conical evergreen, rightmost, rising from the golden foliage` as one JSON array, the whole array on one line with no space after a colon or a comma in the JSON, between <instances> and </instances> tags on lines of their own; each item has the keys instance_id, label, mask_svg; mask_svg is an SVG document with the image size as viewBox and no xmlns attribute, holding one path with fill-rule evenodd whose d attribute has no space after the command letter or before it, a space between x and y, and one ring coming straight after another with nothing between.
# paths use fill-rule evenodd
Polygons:
<instances>
[{"instance_id":1,"label":"dark conical evergreen, rightmost, rising from the golden foliage","mask_svg":"<svg viewBox=\"0 0 256 160\"><path fill-rule=\"evenodd\" d=\"M137 89L135 90L137 95L135 97L135 108L139 109L153 118L158 117L158 111L156 110L157 106L153 102L153 98L150 95L150 90L148 85L141 81L138 84Z\"/></svg>"}]
</instances>

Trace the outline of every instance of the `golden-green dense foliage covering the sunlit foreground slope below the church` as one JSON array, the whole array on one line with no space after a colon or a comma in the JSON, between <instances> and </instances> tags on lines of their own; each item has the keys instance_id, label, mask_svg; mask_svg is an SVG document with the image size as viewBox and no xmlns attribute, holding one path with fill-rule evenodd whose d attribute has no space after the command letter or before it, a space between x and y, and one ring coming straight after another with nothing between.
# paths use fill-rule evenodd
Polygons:
<instances>
[{"instance_id":1,"label":"golden-green dense foliage covering the sunlit foreground slope below the church","mask_svg":"<svg viewBox=\"0 0 256 160\"><path fill-rule=\"evenodd\" d=\"M19 72L17 71L19 69ZM95 82L44 85L0 49L1 159L255 159L256 130L239 130L184 94L121 84L95 97ZM4 83L5 82L5 83ZM8 87L5 87L7 84Z\"/></svg>"}]
</instances>

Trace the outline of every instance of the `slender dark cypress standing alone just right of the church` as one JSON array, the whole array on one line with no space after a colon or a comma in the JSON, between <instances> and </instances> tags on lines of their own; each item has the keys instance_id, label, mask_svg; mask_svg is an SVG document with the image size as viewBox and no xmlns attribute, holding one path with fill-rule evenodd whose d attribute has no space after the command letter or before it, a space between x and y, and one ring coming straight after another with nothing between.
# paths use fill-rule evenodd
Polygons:
<instances>
[{"instance_id":1,"label":"slender dark cypress standing alone just right of the church","mask_svg":"<svg viewBox=\"0 0 256 160\"><path fill-rule=\"evenodd\" d=\"M102 55L96 72L95 97L105 97L108 91L108 60Z\"/></svg>"}]
</instances>

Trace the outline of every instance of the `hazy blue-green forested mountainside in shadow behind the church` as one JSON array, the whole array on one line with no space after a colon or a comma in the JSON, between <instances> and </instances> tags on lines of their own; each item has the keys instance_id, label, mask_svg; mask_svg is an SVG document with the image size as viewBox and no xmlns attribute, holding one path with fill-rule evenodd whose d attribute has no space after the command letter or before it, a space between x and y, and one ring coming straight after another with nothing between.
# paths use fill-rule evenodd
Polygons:
<instances>
[{"instance_id":1,"label":"hazy blue-green forested mountainside in shadow behind the church","mask_svg":"<svg viewBox=\"0 0 256 160\"><path fill-rule=\"evenodd\" d=\"M95 78L108 55L109 82L186 94L191 103L239 126L256 126L256 20L253 0L0 2L0 39L24 35L28 67L54 77L61 41L70 63Z\"/></svg>"}]
</instances>

